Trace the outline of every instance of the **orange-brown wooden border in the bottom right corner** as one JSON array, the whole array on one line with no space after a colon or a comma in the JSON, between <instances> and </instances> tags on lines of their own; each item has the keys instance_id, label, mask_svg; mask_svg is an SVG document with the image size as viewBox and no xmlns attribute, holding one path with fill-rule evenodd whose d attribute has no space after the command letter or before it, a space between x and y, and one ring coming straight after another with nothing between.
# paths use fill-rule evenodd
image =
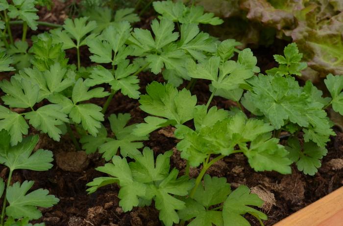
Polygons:
<instances>
[{"instance_id":1,"label":"orange-brown wooden border in the bottom right corner","mask_svg":"<svg viewBox=\"0 0 343 226\"><path fill-rule=\"evenodd\" d=\"M343 226L343 187L274 226Z\"/></svg>"}]
</instances>

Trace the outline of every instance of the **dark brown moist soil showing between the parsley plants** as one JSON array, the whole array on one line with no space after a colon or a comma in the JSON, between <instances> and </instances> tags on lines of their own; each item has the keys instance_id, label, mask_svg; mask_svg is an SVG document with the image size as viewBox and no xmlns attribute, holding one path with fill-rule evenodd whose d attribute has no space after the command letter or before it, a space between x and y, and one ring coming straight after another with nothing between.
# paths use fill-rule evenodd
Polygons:
<instances>
[{"instance_id":1,"label":"dark brown moist soil showing between the parsley plants","mask_svg":"<svg viewBox=\"0 0 343 226\"><path fill-rule=\"evenodd\" d=\"M55 1L55 7L51 12L40 10L40 18L49 22L62 23L67 17L64 14L64 8L65 5ZM146 19L142 27L147 27L150 21L151 18ZM17 29L18 37L21 35L19 28ZM39 29L42 32L45 28ZM89 66L91 62L87 49L84 48L81 52L84 54L83 66ZM270 65L273 66L271 56L276 54L275 49L259 48L253 49L253 52L262 71L270 68ZM67 55L73 63L75 53L68 51ZM8 78L8 74L1 75L0 80ZM140 91L143 94L148 83L164 82L161 75L156 76L147 72L142 72L139 78ZM186 85L187 82L182 84L181 88ZM192 94L196 95L198 104L206 103L210 96L208 83L197 81ZM100 106L105 101L106 98L91 100L92 103ZM220 97L215 97L211 104L224 109L235 106L234 102ZM125 97L121 93L117 93L113 98L105 118L110 114L118 113L130 113L132 116L130 124L142 123L147 116L140 110L137 100ZM104 125L109 128L108 121L105 121ZM183 174L186 163L175 149L178 140L173 137L172 131L172 127L154 131L150 134L150 140L144 143L155 152L155 155L173 150L171 165ZM251 169L242 154L233 154L223 158L212 165L207 173L211 176L225 177L232 188L239 185L250 187L252 192L265 201L265 205L261 208L269 217L265 225L272 226L343 185L343 133L339 130L336 132L337 136L331 137L331 141L327 144L328 154L322 159L322 167L315 176L302 174L294 165L291 175L281 175L276 172L257 173ZM30 135L36 133L37 131L31 129ZM35 223L45 222L47 226L161 226L158 211L154 207L135 207L132 211L124 213L119 206L117 185L107 185L93 194L87 194L87 183L96 177L106 176L96 170L96 167L105 164L98 153L86 155L83 151L76 151L68 135L62 136L60 142L51 140L45 134L39 134L39 136L40 141L36 149L49 149L54 153L53 168L44 172L18 170L13 175L13 183L34 180L33 189L48 189L50 194L60 199L57 205L42 208L43 217ZM0 177L6 179L7 169L2 167L0 170ZM196 177L198 173L199 169L191 169L191 176ZM248 215L246 217L252 226L259 226L254 218Z\"/></svg>"}]
</instances>

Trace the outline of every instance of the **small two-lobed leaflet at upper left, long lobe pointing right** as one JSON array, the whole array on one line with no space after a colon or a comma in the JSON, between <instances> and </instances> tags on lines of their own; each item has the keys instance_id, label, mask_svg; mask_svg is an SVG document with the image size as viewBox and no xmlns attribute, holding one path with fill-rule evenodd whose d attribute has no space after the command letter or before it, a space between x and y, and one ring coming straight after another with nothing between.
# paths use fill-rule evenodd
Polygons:
<instances>
[{"instance_id":1,"label":"small two-lobed leaflet at upper left, long lobe pointing right","mask_svg":"<svg viewBox=\"0 0 343 226\"><path fill-rule=\"evenodd\" d=\"M109 95L107 91L103 91L104 88L98 87L95 89L89 90L89 87L86 83L80 78L76 81L74 88L73 88L73 103L76 104L81 101L88 101L91 98L100 98L106 97Z\"/></svg>"}]
</instances>

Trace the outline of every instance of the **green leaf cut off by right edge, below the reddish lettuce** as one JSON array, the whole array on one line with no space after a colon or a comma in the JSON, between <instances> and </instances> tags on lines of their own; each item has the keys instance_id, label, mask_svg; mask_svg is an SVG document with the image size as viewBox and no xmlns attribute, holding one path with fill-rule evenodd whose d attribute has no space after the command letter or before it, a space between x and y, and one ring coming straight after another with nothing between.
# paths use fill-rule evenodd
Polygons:
<instances>
[{"instance_id":1,"label":"green leaf cut off by right edge, below the reddish lettuce","mask_svg":"<svg viewBox=\"0 0 343 226\"><path fill-rule=\"evenodd\" d=\"M332 97L332 108L343 115L343 76L328 74L324 82Z\"/></svg>"}]
</instances>

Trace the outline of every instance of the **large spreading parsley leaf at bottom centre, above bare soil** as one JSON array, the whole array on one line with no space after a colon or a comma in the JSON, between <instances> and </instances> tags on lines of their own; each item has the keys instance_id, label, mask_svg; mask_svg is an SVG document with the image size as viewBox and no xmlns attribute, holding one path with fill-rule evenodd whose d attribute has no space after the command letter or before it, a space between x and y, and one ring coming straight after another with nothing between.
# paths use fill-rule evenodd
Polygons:
<instances>
[{"instance_id":1,"label":"large spreading parsley leaf at bottom centre, above bare soil","mask_svg":"<svg viewBox=\"0 0 343 226\"><path fill-rule=\"evenodd\" d=\"M171 155L171 151L160 154L155 162L153 151L146 147L143 154L133 156L135 162L127 164L125 158L114 156L113 164L105 164L97 170L118 179L121 187L118 195L121 199L119 205L124 211L138 206L140 199L146 202L154 199L156 208L160 210L160 220L166 226L172 226L173 223L179 222L175 210L185 207L183 201L172 195L187 195L193 182L185 176L177 178L176 169L169 172ZM98 184L101 182L105 180L98 180ZM92 187L88 190L91 191Z\"/></svg>"}]
</instances>

